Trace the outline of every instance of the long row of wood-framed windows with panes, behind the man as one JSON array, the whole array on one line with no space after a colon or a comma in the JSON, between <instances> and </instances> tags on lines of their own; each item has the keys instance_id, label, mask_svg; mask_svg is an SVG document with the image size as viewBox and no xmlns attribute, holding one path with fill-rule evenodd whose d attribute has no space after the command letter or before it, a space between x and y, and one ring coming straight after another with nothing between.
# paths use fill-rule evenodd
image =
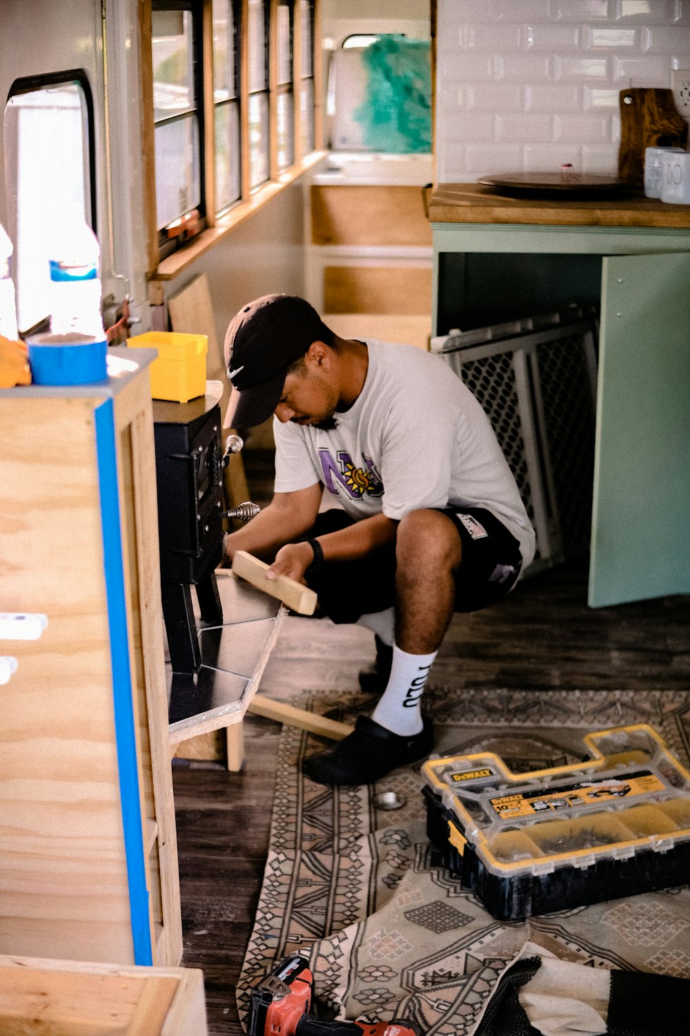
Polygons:
<instances>
[{"instance_id":1,"label":"long row of wood-framed windows with panes, behind the man","mask_svg":"<svg viewBox=\"0 0 690 1036\"><path fill-rule=\"evenodd\" d=\"M149 271L168 278L190 234L203 251L318 161L320 0L142 2Z\"/></svg>"}]
</instances>

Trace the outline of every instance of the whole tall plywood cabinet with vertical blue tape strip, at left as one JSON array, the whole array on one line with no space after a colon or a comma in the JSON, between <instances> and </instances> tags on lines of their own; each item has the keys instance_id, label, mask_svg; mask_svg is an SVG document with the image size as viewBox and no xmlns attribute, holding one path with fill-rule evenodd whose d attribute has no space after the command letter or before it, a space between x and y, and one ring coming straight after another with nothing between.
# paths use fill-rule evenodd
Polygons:
<instances>
[{"instance_id":1,"label":"whole tall plywood cabinet with vertical blue tape strip, at left","mask_svg":"<svg viewBox=\"0 0 690 1036\"><path fill-rule=\"evenodd\" d=\"M48 617L37 639L0 644L17 659L1 688L0 952L170 966L155 352L127 352L97 384L0 392L1 607Z\"/></svg>"}]
</instances>

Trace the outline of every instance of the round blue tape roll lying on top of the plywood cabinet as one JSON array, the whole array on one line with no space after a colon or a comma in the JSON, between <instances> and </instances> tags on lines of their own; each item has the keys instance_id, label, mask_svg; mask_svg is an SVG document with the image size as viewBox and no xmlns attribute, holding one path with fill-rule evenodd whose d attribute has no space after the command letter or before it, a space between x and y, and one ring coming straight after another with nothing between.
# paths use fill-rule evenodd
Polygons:
<instances>
[{"instance_id":1,"label":"round blue tape roll lying on top of the plywood cabinet","mask_svg":"<svg viewBox=\"0 0 690 1036\"><path fill-rule=\"evenodd\" d=\"M108 343L88 335L33 335L27 339L37 385L83 385L108 377Z\"/></svg>"}]
</instances>

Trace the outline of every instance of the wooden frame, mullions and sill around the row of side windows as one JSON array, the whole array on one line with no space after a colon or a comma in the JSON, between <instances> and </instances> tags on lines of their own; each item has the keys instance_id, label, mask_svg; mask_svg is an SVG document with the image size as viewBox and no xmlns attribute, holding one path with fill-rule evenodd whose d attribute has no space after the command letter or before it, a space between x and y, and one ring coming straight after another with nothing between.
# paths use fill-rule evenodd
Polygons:
<instances>
[{"instance_id":1,"label":"wooden frame, mullions and sill around the row of side windows","mask_svg":"<svg viewBox=\"0 0 690 1036\"><path fill-rule=\"evenodd\" d=\"M215 214L215 133L213 107L213 22L211 0L201 0L203 49L203 123L204 123L204 195L206 201L206 229L187 241L172 255L161 259L156 228L155 148L153 124L153 61L151 53L151 0L142 0L140 7L141 82L143 98L142 141L144 177L146 183L145 206L147 226L148 277L156 281L176 278L201 255L239 224L269 202L276 194L294 182L302 173L316 165L325 154L323 131L323 62L321 53L321 0L313 0L313 107L314 149L302 153L300 112L301 69L301 19L297 17L298 4L293 13L293 147L294 163L282 171L277 170L275 98L277 94L277 0L269 8L269 179L249 191L249 120L248 120L248 0L241 0L240 21L240 161L241 197L222 215Z\"/></svg>"}]
</instances>

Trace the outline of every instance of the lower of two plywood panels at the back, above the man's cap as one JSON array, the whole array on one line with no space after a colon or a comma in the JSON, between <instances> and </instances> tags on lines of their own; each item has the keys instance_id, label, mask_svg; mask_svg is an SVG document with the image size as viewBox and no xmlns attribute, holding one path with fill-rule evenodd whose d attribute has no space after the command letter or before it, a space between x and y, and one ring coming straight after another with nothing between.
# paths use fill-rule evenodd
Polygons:
<instances>
[{"instance_id":1,"label":"lower of two plywood panels at the back, above the man's cap","mask_svg":"<svg viewBox=\"0 0 690 1036\"><path fill-rule=\"evenodd\" d=\"M425 266L326 266L324 312L431 312L431 269Z\"/></svg>"}]
</instances>

